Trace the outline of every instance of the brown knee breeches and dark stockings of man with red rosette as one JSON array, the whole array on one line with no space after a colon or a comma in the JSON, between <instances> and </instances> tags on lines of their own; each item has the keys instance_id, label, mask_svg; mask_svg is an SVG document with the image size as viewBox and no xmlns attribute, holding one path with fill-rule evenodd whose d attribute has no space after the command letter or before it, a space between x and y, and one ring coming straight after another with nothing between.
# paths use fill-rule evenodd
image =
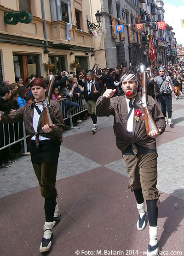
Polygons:
<instances>
[{"instance_id":1,"label":"brown knee breeches and dark stockings of man with red rosette","mask_svg":"<svg viewBox=\"0 0 184 256\"><path fill-rule=\"evenodd\" d=\"M157 226L158 219L158 189L157 183L158 154L123 155L123 160L129 175L129 182L138 204L146 199L150 226Z\"/></svg>"}]
</instances>

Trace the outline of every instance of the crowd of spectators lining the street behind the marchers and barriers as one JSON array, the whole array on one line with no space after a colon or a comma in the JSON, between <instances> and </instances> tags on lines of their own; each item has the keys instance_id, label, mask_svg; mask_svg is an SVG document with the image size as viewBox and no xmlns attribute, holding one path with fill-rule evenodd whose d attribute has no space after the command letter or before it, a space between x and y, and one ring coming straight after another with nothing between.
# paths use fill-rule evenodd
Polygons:
<instances>
[{"instance_id":1,"label":"crowd of spectators lining the street behind the marchers and barriers","mask_svg":"<svg viewBox=\"0 0 184 256\"><path fill-rule=\"evenodd\" d=\"M161 65L160 65L161 66ZM97 67L95 69L95 67ZM173 84L175 86L175 99L179 99L179 95L182 94L182 84L184 83L184 66L182 63L177 63L175 65L168 64L165 65L167 70L167 75L171 76L173 79ZM85 82L86 74L89 72L94 73L96 71L95 81L98 83L101 93L106 89L116 90L115 96L123 95L123 91L120 85L121 74L123 71L127 71L127 67L114 67L114 68L98 68L95 65L91 70L79 70L76 72L72 71L68 73L67 71L50 74L45 78L46 84L48 85L49 79L54 79L54 84L52 87L52 100L58 101L61 104L63 118L65 120L65 125L70 126L72 119L73 125L78 125L78 123L86 120L89 114L87 113L85 107ZM158 66L147 67L146 72L149 76L158 76ZM137 74L139 86L138 91L141 90L141 73L139 67L134 67L134 71ZM8 80L2 81L2 88L0 89L0 111L4 111L9 114L16 111L18 108L25 104L31 104L34 100L31 89L30 82L35 79L36 75L31 75L25 80L25 85L23 84L23 79L21 77L16 77L16 83L10 84ZM43 77L41 77L44 79ZM92 79L94 77L92 76ZM152 89L150 89L152 88ZM147 92L148 95L155 98L154 84L152 84L148 79L147 81ZM83 98L81 96L83 95ZM98 94L99 97L99 94ZM97 98L97 97L96 97ZM19 130L19 132L18 132ZM6 128L6 125L0 124L0 148L10 144L13 139L17 140L20 136L23 136L22 124L14 125L13 129ZM13 136L13 134L16 134ZM19 134L19 137L17 136ZM9 167L13 162L15 162L15 153L21 152L22 146L18 142L11 147L6 147L0 151L0 167ZM12 154L12 152L14 152Z\"/></svg>"}]
</instances>

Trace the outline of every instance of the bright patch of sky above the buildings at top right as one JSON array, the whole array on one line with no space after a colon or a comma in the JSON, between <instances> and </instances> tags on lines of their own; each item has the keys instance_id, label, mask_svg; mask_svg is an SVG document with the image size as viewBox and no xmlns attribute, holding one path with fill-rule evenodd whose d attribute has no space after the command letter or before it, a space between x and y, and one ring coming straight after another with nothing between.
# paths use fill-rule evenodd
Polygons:
<instances>
[{"instance_id":1,"label":"bright patch of sky above the buildings at top right","mask_svg":"<svg viewBox=\"0 0 184 256\"><path fill-rule=\"evenodd\" d=\"M184 0L163 0L164 19L167 24L173 27L177 43L184 47L184 27L181 26L181 19L184 18Z\"/></svg>"}]
</instances>

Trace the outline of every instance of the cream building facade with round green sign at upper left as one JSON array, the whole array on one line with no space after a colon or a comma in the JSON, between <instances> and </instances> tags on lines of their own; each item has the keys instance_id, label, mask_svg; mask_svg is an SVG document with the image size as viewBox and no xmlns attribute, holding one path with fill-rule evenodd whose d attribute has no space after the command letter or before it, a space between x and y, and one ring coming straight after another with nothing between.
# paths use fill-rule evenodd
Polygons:
<instances>
[{"instance_id":1,"label":"cream building facade with round green sign at upper left","mask_svg":"<svg viewBox=\"0 0 184 256\"><path fill-rule=\"evenodd\" d=\"M6 13L21 11L32 14L29 24L6 23ZM86 23L91 13L89 0L0 0L0 82L15 82L17 76L25 83L32 74L92 68L94 39ZM72 24L70 42L67 23Z\"/></svg>"}]
</instances>

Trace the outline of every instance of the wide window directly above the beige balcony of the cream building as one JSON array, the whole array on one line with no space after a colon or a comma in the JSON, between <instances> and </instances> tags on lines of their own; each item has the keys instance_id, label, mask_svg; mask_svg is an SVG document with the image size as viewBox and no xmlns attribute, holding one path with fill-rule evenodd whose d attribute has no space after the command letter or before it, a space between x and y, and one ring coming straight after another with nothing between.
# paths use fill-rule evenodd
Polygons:
<instances>
[{"instance_id":1,"label":"wide window directly above the beige balcony of the cream building","mask_svg":"<svg viewBox=\"0 0 184 256\"><path fill-rule=\"evenodd\" d=\"M51 20L63 20L69 22L69 3L69 0L50 0Z\"/></svg>"}]
</instances>

